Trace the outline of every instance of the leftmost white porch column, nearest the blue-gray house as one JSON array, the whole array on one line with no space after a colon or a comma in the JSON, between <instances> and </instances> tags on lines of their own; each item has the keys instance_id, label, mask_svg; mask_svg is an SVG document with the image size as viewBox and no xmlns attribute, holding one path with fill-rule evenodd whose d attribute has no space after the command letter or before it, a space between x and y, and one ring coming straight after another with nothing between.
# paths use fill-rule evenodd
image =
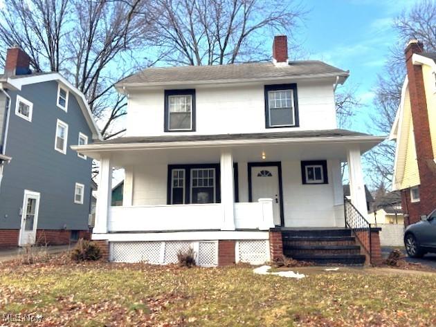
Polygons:
<instances>
[{"instance_id":1,"label":"leftmost white porch column, nearest the blue-gray house","mask_svg":"<svg viewBox=\"0 0 436 327\"><path fill-rule=\"evenodd\" d=\"M96 204L96 223L93 228L94 234L108 232L107 223L112 198L112 165L109 158L100 160L100 184L98 185L98 197Z\"/></svg>"}]
</instances>

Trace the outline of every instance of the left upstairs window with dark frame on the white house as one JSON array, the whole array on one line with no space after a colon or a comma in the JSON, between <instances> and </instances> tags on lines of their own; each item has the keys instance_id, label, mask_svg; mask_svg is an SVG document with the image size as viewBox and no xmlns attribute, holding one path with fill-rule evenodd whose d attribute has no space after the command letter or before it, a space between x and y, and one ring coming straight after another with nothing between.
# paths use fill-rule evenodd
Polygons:
<instances>
[{"instance_id":1,"label":"left upstairs window with dark frame on the white house","mask_svg":"<svg viewBox=\"0 0 436 327\"><path fill-rule=\"evenodd\" d=\"M165 90L165 131L195 130L195 90Z\"/></svg>"}]
</instances>

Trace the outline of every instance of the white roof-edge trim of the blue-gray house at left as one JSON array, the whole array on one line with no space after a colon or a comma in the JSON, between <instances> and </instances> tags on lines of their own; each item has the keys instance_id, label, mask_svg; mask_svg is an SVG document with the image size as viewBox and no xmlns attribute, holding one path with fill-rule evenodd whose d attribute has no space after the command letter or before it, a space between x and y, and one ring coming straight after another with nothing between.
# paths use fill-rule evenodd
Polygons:
<instances>
[{"instance_id":1,"label":"white roof-edge trim of the blue-gray house at left","mask_svg":"<svg viewBox=\"0 0 436 327\"><path fill-rule=\"evenodd\" d=\"M12 88L15 90L21 90L21 87L24 85L42 83L48 81L57 81L61 82L66 86L66 88L71 91L78 100L80 105L80 109L82 109L82 113L84 115L85 120L87 120L89 129L92 131L92 137L94 140L102 140L102 136L100 133L100 129L98 129L96 121L93 118L91 113L91 109L89 108L89 104L87 99L84 97L84 94L78 90L73 84L71 84L65 77L63 77L60 73L51 72L51 73L31 73L28 75L12 75L7 76L5 74L0 75L0 83L5 84L6 88Z\"/></svg>"}]
</instances>

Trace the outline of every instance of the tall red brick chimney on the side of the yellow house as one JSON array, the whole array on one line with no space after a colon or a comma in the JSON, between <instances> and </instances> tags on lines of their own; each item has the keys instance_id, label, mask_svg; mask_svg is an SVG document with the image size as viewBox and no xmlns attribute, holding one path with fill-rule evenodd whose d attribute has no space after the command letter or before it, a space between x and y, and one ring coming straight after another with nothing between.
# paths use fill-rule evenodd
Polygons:
<instances>
[{"instance_id":1,"label":"tall red brick chimney on the side of the yellow house","mask_svg":"<svg viewBox=\"0 0 436 327\"><path fill-rule=\"evenodd\" d=\"M421 180L421 185L419 185L419 202L410 203L410 190L403 190L403 198L406 198L407 205L407 212L405 213L410 215L410 223L419 221L421 215L429 214L436 206L436 164L433 161L433 148L430 137L424 77L421 65L414 65L412 59L415 53L419 54L423 52L424 45L416 39L410 40L404 50L406 55L415 149L417 152L419 179Z\"/></svg>"}]
</instances>

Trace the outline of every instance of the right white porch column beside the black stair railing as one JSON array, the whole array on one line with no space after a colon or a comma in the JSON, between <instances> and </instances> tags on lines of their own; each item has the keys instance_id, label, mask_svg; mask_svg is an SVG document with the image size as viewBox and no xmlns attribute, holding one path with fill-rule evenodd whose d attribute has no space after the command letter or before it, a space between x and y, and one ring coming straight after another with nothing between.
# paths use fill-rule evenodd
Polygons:
<instances>
[{"instance_id":1,"label":"right white porch column beside the black stair railing","mask_svg":"<svg viewBox=\"0 0 436 327\"><path fill-rule=\"evenodd\" d=\"M348 175L349 175L349 194L354 207L367 218L365 183L363 182L363 172L361 163L361 149L352 147L347 153Z\"/></svg>"}]
</instances>

